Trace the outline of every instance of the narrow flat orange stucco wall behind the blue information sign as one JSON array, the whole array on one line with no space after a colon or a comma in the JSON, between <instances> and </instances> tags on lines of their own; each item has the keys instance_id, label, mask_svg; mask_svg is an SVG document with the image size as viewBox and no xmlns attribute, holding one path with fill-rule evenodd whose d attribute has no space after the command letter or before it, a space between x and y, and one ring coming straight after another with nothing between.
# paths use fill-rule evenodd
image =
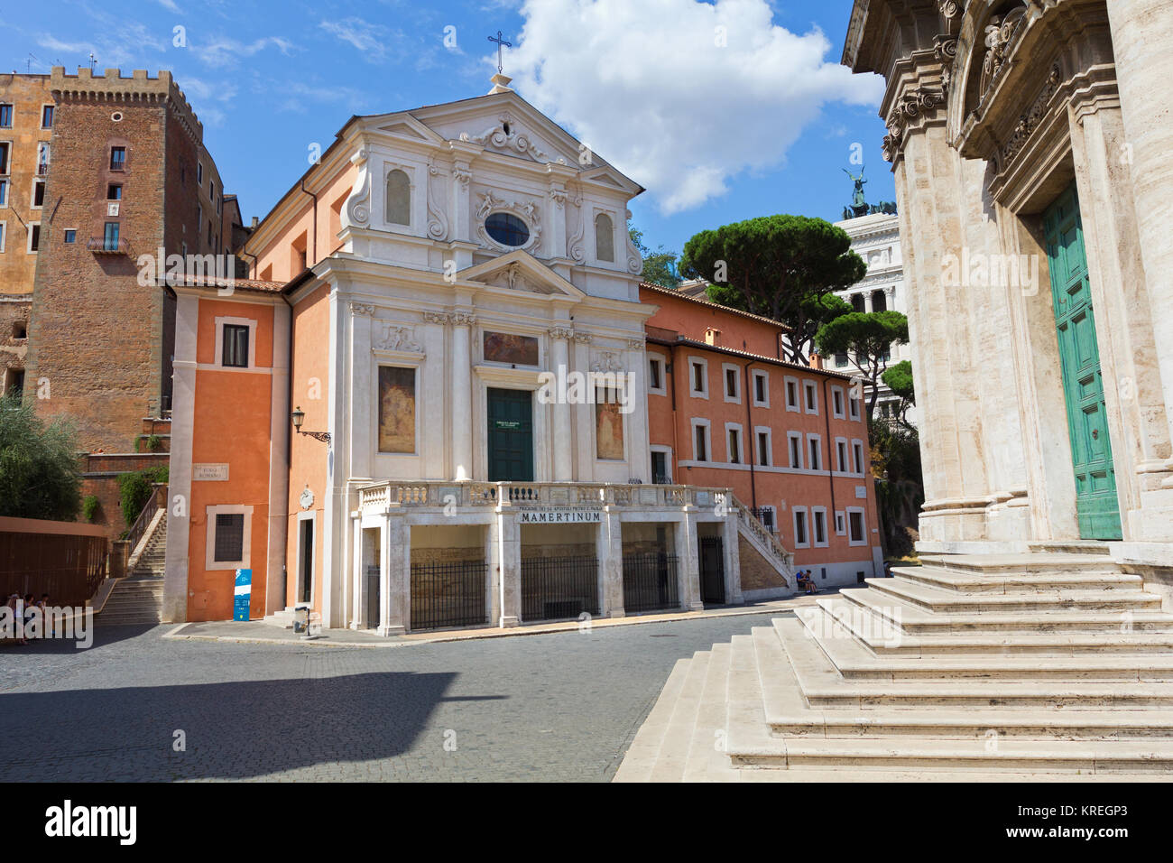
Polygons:
<instances>
[{"instance_id":1,"label":"narrow flat orange stucco wall behind the blue information sign","mask_svg":"<svg viewBox=\"0 0 1173 863\"><path fill-rule=\"evenodd\" d=\"M280 302L280 301L277 301ZM256 321L255 369L216 368L216 318ZM232 616L235 569L210 569L208 507L251 506L250 614L264 616L267 571L270 439L272 423L273 309L266 303L201 298L192 423L194 465L229 466L229 479L191 483L188 555L188 620Z\"/></svg>"}]
</instances>

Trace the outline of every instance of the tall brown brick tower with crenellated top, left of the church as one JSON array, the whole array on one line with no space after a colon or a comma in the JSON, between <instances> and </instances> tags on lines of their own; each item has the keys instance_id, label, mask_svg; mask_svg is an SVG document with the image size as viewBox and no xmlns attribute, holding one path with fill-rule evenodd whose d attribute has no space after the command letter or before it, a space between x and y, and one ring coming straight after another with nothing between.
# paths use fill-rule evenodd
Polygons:
<instances>
[{"instance_id":1,"label":"tall brown brick tower with crenellated top, left of the church","mask_svg":"<svg viewBox=\"0 0 1173 863\"><path fill-rule=\"evenodd\" d=\"M29 221L26 398L68 414L87 450L134 451L143 418L170 406L175 331L175 295L140 284L140 256L230 255L224 187L169 72L54 67L40 85L32 100L47 99L52 135L32 181L43 186Z\"/></svg>"}]
</instances>

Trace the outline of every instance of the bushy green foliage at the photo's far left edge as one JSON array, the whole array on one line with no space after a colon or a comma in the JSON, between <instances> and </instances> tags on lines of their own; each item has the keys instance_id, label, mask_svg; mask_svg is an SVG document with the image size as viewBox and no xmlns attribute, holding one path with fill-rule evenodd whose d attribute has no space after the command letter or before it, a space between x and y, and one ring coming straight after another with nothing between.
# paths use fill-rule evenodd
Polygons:
<instances>
[{"instance_id":1,"label":"bushy green foliage at the photo's far left edge","mask_svg":"<svg viewBox=\"0 0 1173 863\"><path fill-rule=\"evenodd\" d=\"M0 398L0 515L72 521L81 510L73 427Z\"/></svg>"}]
</instances>

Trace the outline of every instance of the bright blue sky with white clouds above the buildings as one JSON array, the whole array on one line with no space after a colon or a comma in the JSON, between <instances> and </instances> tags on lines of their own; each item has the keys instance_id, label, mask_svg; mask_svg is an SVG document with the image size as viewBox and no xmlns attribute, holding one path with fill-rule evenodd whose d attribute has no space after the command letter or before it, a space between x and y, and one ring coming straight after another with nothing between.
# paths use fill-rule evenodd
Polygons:
<instances>
[{"instance_id":1,"label":"bright blue sky with white clouds above the buildings","mask_svg":"<svg viewBox=\"0 0 1173 863\"><path fill-rule=\"evenodd\" d=\"M499 29L517 92L647 187L632 214L652 248L773 213L839 218L853 144L868 200L895 200L880 83L838 67L850 0L4 6L0 68L72 72L93 52L99 70L174 70L245 220L352 114L486 93Z\"/></svg>"}]
</instances>

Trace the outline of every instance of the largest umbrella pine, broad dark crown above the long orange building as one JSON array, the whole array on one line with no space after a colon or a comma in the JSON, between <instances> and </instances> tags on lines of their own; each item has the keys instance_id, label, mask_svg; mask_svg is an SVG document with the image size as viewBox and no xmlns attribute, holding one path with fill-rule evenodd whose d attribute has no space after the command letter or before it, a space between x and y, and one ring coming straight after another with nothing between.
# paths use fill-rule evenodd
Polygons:
<instances>
[{"instance_id":1,"label":"largest umbrella pine, broad dark crown above the long orange building","mask_svg":"<svg viewBox=\"0 0 1173 863\"><path fill-rule=\"evenodd\" d=\"M789 359L804 365L819 328L841 311L828 295L866 272L842 228L785 214L701 231L684 244L680 256L680 274L706 279L713 302L791 328Z\"/></svg>"}]
</instances>

